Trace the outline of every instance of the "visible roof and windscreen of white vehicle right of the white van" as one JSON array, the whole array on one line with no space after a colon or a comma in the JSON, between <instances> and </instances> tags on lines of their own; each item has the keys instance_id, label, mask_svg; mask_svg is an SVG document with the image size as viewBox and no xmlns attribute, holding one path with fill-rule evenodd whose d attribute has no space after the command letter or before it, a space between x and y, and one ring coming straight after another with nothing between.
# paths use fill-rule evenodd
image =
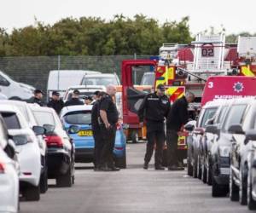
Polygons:
<instances>
[{"instance_id":1,"label":"visible roof and windscreen of white vehicle right of the white van","mask_svg":"<svg viewBox=\"0 0 256 213\"><path fill-rule=\"evenodd\" d=\"M119 77L115 73L102 74L86 74L82 79L80 85L85 86L105 86L108 84L120 85Z\"/></svg>"}]
</instances>

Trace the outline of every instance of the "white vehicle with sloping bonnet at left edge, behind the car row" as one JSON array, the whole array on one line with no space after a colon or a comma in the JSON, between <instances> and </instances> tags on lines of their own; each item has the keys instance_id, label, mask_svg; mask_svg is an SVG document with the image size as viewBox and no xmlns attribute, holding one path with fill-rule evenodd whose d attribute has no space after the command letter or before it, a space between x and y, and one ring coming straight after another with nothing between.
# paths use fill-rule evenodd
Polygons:
<instances>
[{"instance_id":1,"label":"white vehicle with sloping bonnet at left edge, behind the car row","mask_svg":"<svg viewBox=\"0 0 256 213\"><path fill-rule=\"evenodd\" d=\"M10 100L28 100L32 97L34 87L19 83L0 71L0 90Z\"/></svg>"}]
</instances>

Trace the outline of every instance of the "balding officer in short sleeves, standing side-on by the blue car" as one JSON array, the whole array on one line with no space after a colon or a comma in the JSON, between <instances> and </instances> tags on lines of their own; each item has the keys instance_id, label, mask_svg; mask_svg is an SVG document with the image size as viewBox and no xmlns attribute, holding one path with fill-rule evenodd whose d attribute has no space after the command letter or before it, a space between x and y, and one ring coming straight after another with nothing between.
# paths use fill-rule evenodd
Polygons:
<instances>
[{"instance_id":1,"label":"balding officer in short sleeves, standing side-on by the blue car","mask_svg":"<svg viewBox=\"0 0 256 213\"><path fill-rule=\"evenodd\" d=\"M116 87L108 85L107 94L102 95L100 102L100 128L102 133L102 165L101 170L117 171L113 164L113 147L116 134L116 124L119 120L119 113L113 96L116 94Z\"/></svg>"}]
</instances>

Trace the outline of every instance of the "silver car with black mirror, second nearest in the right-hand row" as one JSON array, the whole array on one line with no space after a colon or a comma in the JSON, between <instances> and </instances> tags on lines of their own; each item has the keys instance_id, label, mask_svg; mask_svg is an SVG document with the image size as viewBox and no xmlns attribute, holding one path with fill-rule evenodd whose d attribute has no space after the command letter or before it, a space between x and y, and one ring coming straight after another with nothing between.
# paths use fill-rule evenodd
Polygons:
<instances>
[{"instance_id":1,"label":"silver car with black mirror, second nearest in the right-hand row","mask_svg":"<svg viewBox=\"0 0 256 213\"><path fill-rule=\"evenodd\" d=\"M247 179L248 170L253 163L250 157L253 150L253 141L247 134L255 130L255 106L254 99L238 99L233 102L237 107L245 107L241 121L234 123L229 128L231 138L230 150L230 199L239 200L241 204L247 204ZM249 195L252 194L249 192ZM249 202L252 206L252 202Z\"/></svg>"}]
</instances>

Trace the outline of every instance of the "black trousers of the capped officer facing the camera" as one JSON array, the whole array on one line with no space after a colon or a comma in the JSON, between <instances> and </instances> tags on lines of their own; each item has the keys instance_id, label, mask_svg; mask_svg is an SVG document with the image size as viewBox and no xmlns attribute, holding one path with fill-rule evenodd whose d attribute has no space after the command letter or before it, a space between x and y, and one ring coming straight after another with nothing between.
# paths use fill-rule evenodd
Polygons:
<instances>
[{"instance_id":1,"label":"black trousers of the capped officer facing the camera","mask_svg":"<svg viewBox=\"0 0 256 213\"><path fill-rule=\"evenodd\" d=\"M154 153L154 166L160 166L163 156L163 145L166 139L164 130L151 130L147 132L147 150L144 161L146 164L149 163L154 152L154 143L156 144Z\"/></svg>"}]
</instances>

